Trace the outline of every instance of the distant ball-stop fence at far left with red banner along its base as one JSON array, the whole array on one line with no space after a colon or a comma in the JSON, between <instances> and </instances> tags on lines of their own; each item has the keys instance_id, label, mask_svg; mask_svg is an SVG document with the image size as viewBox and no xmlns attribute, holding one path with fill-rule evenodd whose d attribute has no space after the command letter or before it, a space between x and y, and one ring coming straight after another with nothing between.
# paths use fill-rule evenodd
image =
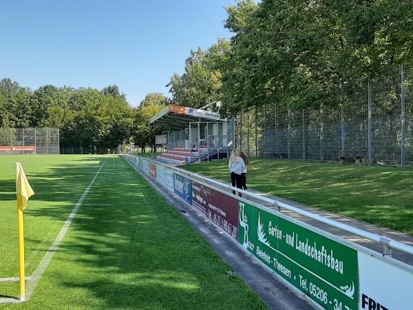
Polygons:
<instances>
[{"instance_id":1,"label":"distant ball-stop fence at far left with red banner along its base","mask_svg":"<svg viewBox=\"0 0 413 310\"><path fill-rule=\"evenodd\" d=\"M0 128L0 154L59 154L59 128Z\"/></svg>"}]
</instances>

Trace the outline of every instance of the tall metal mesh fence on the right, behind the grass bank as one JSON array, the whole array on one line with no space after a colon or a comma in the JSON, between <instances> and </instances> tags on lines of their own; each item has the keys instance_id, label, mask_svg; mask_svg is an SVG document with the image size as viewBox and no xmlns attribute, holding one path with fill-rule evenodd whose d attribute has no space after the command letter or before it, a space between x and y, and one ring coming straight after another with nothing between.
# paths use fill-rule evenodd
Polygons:
<instances>
[{"instance_id":1,"label":"tall metal mesh fence on the right, behind the grass bank","mask_svg":"<svg viewBox=\"0 0 413 310\"><path fill-rule=\"evenodd\" d=\"M242 111L235 136L250 156L413 165L413 65L341 83L318 109L274 103Z\"/></svg>"}]
</instances>

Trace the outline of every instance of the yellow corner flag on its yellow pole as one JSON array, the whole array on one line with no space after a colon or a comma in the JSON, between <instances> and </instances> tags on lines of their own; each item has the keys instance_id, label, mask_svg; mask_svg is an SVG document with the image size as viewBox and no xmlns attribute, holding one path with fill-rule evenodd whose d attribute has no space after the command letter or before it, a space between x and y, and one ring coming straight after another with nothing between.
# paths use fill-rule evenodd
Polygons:
<instances>
[{"instance_id":1,"label":"yellow corner flag on its yellow pole","mask_svg":"<svg viewBox=\"0 0 413 310\"><path fill-rule=\"evenodd\" d=\"M23 210L28 206L28 200L32 195L34 195L34 192L24 174L23 167L21 167L21 163L16 163L17 221L19 225L19 284L20 300L22 301L25 300Z\"/></svg>"}]
</instances>

